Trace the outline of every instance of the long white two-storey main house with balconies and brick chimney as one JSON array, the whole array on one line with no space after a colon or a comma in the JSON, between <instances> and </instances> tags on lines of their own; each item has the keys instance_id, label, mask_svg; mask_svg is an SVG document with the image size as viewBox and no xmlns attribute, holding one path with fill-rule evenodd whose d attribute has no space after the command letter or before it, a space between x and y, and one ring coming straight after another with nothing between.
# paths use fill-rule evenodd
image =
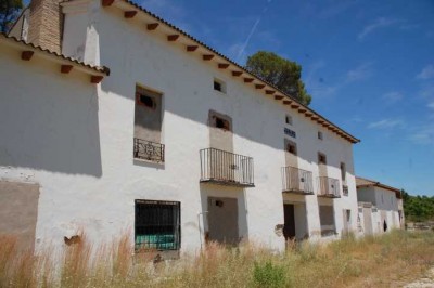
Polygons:
<instances>
[{"instance_id":1,"label":"long white two-storey main house with balconies and brick chimney","mask_svg":"<svg viewBox=\"0 0 434 288\"><path fill-rule=\"evenodd\" d=\"M290 95L127 0L34 0L18 23L0 37L0 232L178 252L357 228L358 140Z\"/></svg>"}]
</instances>

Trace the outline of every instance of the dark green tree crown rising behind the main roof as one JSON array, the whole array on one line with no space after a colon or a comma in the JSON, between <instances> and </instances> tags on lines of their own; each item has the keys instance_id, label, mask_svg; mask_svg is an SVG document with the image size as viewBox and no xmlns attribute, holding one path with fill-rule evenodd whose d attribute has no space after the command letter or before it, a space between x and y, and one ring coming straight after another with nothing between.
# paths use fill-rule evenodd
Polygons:
<instances>
[{"instance_id":1,"label":"dark green tree crown rising behind the main roof","mask_svg":"<svg viewBox=\"0 0 434 288\"><path fill-rule=\"evenodd\" d=\"M283 92L294 96L301 103L309 105L311 96L301 80L302 66L272 52L258 51L248 56L246 69Z\"/></svg>"}]
</instances>

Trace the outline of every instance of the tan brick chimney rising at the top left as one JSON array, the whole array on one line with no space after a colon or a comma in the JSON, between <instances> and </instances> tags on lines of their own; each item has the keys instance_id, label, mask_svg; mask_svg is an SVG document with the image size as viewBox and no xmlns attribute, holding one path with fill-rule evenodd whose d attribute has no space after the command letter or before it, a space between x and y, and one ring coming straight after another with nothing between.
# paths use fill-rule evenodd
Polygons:
<instances>
[{"instance_id":1,"label":"tan brick chimney rising at the top left","mask_svg":"<svg viewBox=\"0 0 434 288\"><path fill-rule=\"evenodd\" d=\"M27 42L61 53L63 15L62 0L31 0Z\"/></svg>"}]
</instances>

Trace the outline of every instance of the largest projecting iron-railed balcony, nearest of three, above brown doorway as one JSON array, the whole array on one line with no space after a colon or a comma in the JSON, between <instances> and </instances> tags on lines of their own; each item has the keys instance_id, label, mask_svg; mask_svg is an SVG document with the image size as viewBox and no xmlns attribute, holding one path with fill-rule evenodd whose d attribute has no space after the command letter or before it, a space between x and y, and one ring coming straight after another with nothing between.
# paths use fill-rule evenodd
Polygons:
<instances>
[{"instance_id":1,"label":"largest projecting iron-railed balcony, nearest of three, above brown doorway","mask_svg":"<svg viewBox=\"0 0 434 288\"><path fill-rule=\"evenodd\" d=\"M201 149L201 182L254 187L253 158L216 148Z\"/></svg>"}]
</instances>

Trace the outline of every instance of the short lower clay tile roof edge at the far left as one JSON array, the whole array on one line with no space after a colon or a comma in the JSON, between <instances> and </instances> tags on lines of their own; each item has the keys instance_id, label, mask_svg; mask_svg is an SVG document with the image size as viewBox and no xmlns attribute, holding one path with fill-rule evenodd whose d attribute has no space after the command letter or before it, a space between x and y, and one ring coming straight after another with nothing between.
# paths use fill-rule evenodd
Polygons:
<instances>
[{"instance_id":1,"label":"short lower clay tile roof edge at the far left","mask_svg":"<svg viewBox=\"0 0 434 288\"><path fill-rule=\"evenodd\" d=\"M60 58L62 61L69 62L71 64L79 65L79 66L88 69L89 71L95 71L98 74L103 74L105 76L110 75L110 68L108 67L94 66L94 65L86 64L86 63L84 63L81 61L78 61L78 60L75 60L75 58L72 58L72 57L67 57L67 56L65 56L63 54L59 54L59 53L50 51L48 49L43 49L43 48L41 48L39 45L35 45L33 43L27 43L24 40L16 39L15 37L8 36L8 35L5 35L3 32L0 32L0 40L14 41L14 42L16 42L16 43L18 43L18 44L21 44L23 47L31 48L35 51L38 51L38 52L41 52L41 53L46 53L47 55L51 55L51 56L58 57L58 58Z\"/></svg>"}]
</instances>

